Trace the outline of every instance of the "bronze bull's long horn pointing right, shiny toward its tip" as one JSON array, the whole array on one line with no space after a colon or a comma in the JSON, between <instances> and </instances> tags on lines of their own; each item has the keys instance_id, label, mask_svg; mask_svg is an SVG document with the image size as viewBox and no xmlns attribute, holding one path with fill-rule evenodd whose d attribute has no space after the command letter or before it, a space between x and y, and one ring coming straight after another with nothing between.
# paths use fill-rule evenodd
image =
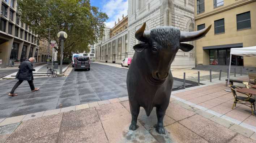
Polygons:
<instances>
[{"instance_id":1,"label":"bronze bull's long horn pointing right, shiny toward its tip","mask_svg":"<svg viewBox=\"0 0 256 143\"><path fill-rule=\"evenodd\" d=\"M200 39L211 29L212 25L195 32L180 32L180 42L188 42Z\"/></svg>"}]
</instances>

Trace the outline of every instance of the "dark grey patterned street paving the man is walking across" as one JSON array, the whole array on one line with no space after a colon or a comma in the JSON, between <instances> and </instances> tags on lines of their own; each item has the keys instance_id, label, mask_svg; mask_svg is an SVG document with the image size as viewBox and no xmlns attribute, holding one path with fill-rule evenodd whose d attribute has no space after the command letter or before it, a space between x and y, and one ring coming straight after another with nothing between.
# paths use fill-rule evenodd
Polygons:
<instances>
[{"instance_id":1,"label":"dark grey patterned street paving the man is walking across","mask_svg":"<svg viewBox=\"0 0 256 143\"><path fill-rule=\"evenodd\" d=\"M17 80L0 80L0 119L128 96L127 71L91 63L90 71L72 70L68 77L36 78L35 87L40 87L37 92L31 92L24 81L16 89L16 97L7 94ZM176 87L182 84L174 82Z\"/></svg>"}]
</instances>

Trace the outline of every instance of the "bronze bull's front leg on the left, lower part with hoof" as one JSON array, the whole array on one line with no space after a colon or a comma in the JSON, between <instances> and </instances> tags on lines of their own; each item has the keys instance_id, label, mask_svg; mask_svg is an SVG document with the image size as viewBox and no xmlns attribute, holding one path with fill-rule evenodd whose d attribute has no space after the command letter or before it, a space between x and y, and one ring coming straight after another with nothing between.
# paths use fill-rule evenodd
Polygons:
<instances>
[{"instance_id":1,"label":"bronze bull's front leg on the left, lower part with hoof","mask_svg":"<svg viewBox=\"0 0 256 143\"><path fill-rule=\"evenodd\" d=\"M138 119L138 114L140 113L140 106L138 105L138 103L132 103L131 101L129 101L129 105L130 105L130 110L132 114L132 123L129 129L136 130L138 128L137 119Z\"/></svg>"}]
</instances>

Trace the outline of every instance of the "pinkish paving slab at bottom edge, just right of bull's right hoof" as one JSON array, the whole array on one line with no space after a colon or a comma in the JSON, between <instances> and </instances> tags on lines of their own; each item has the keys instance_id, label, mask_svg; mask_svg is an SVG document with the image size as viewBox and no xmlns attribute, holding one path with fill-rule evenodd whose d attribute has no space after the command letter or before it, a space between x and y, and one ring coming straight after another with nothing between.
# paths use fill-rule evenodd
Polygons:
<instances>
[{"instance_id":1,"label":"pinkish paving slab at bottom edge, just right of bull's right hoof","mask_svg":"<svg viewBox=\"0 0 256 143\"><path fill-rule=\"evenodd\" d=\"M168 125L165 129L169 132L172 142L175 143L208 143L205 139L179 123Z\"/></svg>"}]
</instances>

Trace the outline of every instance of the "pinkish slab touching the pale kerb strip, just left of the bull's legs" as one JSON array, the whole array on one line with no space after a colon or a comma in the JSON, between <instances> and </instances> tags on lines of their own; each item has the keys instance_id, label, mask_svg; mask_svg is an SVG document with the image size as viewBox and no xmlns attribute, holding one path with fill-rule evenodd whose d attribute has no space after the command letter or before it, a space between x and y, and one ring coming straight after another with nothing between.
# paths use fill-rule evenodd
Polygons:
<instances>
[{"instance_id":1,"label":"pinkish slab touching the pale kerb strip, just left of the bull's legs","mask_svg":"<svg viewBox=\"0 0 256 143\"><path fill-rule=\"evenodd\" d=\"M101 121L115 118L117 116L130 114L121 103L110 103L95 107Z\"/></svg>"}]
</instances>

